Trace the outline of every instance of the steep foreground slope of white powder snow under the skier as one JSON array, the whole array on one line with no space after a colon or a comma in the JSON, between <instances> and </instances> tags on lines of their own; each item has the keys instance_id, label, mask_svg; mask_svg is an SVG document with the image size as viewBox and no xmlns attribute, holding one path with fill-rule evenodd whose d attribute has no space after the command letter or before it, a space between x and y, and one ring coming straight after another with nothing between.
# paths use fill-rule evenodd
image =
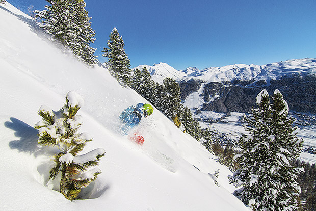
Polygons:
<instances>
[{"instance_id":1,"label":"steep foreground slope of white powder snow under the skier","mask_svg":"<svg viewBox=\"0 0 316 211\"><path fill-rule=\"evenodd\" d=\"M9 3L0 6L0 19L1 210L249 210L231 194L231 172L157 110L138 128L142 147L118 133L119 113L146 102L135 91L106 69L62 54ZM102 174L82 192L89 200L72 202L48 181L56 149L38 146L33 128L40 106L59 110L70 90L84 98L81 131L94 138L83 153L106 150ZM209 175L218 169L220 187Z\"/></svg>"}]
</instances>

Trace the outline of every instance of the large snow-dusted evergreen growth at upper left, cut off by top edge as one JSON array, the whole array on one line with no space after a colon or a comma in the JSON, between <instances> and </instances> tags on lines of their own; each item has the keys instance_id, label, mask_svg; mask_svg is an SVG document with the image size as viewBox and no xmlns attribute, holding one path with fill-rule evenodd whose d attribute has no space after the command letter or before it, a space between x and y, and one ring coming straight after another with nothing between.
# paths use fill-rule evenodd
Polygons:
<instances>
[{"instance_id":1,"label":"large snow-dusted evergreen growth at upper left, cut off by top edge","mask_svg":"<svg viewBox=\"0 0 316 211\"><path fill-rule=\"evenodd\" d=\"M95 32L91 28L91 17L85 10L83 0L47 0L46 10L35 11L35 17L42 19L41 28L54 40L69 47L73 54L89 65L95 64Z\"/></svg>"}]
</instances>

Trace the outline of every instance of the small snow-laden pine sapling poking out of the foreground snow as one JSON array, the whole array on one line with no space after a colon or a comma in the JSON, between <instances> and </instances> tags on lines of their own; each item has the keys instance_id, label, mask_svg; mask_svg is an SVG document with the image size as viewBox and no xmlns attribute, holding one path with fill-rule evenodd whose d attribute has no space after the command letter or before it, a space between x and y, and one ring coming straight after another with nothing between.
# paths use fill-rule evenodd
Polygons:
<instances>
[{"instance_id":1,"label":"small snow-laden pine sapling poking out of the foreground snow","mask_svg":"<svg viewBox=\"0 0 316 211\"><path fill-rule=\"evenodd\" d=\"M35 128L39 129L38 143L44 146L57 146L60 150L54 156L55 166L50 170L49 179L55 179L60 173L60 192L69 200L78 197L82 188L101 173L98 167L104 149L98 148L86 154L78 155L86 142L92 141L88 133L79 133L82 117L77 115L83 105L83 99L74 91L66 96L66 104L57 112L42 105L38 114L43 118Z\"/></svg>"}]
</instances>

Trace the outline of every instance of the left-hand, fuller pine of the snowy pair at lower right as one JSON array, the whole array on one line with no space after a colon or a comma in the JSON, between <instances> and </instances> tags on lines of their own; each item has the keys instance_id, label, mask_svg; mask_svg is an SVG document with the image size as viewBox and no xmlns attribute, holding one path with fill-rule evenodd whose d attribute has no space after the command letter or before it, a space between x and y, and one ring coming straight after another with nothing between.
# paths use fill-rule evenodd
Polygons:
<instances>
[{"instance_id":1,"label":"left-hand, fuller pine of the snowy pair at lower right","mask_svg":"<svg viewBox=\"0 0 316 211\"><path fill-rule=\"evenodd\" d=\"M234 194L253 210L274 210L275 190L279 188L279 184L274 183L274 179L278 177L278 165L273 156L274 152L270 150L273 143L270 136L271 107L266 90L258 94L257 105L259 108L253 108L250 115L244 119L245 129L251 137L243 136L240 139L240 169L235 171L234 177L230 179L235 182L236 187L243 186Z\"/></svg>"}]
</instances>

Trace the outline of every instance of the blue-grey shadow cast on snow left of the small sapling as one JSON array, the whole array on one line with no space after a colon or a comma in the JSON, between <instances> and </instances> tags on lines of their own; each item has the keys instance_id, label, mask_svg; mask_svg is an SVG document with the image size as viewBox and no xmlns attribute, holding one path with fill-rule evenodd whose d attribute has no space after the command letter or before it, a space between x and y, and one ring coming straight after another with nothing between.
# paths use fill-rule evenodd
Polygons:
<instances>
[{"instance_id":1,"label":"blue-grey shadow cast on snow left of the small sapling","mask_svg":"<svg viewBox=\"0 0 316 211\"><path fill-rule=\"evenodd\" d=\"M9 142L11 149L17 149L19 152L27 152L38 156L45 154L44 150L38 145L38 131L34 127L18 120L14 117L10 118L11 122L7 121L4 123L5 127L14 130L15 137L18 140L12 140Z\"/></svg>"}]
</instances>

